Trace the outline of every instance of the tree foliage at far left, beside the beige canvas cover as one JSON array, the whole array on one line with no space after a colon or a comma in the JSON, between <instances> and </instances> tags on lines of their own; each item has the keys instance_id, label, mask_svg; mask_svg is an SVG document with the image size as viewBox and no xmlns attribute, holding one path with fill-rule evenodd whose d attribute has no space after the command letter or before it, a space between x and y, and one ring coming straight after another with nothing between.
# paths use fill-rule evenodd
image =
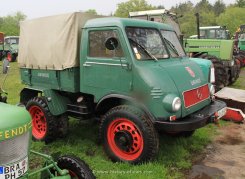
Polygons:
<instances>
[{"instance_id":1,"label":"tree foliage at far left, beside the beige canvas cover","mask_svg":"<svg viewBox=\"0 0 245 179\"><path fill-rule=\"evenodd\" d=\"M0 17L0 32L3 32L5 36L19 35L20 21L25 19L26 15L22 12L16 12L15 14L6 17Z\"/></svg>"}]
</instances>

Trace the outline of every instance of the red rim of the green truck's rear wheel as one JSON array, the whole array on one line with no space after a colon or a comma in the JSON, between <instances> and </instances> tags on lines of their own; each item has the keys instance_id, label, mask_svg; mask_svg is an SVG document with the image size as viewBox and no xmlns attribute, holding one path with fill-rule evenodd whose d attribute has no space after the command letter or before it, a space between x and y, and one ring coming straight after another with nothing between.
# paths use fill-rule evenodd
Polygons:
<instances>
[{"instance_id":1,"label":"red rim of the green truck's rear wheel","mask_svg":"<svg viewBox=\"0 0 245 179\"><path fill-rule=\"evenodd\" d=\"M36 139L42 139L47 132L47 120L40 107L31 106L29 113L32 117L32 135Z\"/></svg>"}]
</instances>

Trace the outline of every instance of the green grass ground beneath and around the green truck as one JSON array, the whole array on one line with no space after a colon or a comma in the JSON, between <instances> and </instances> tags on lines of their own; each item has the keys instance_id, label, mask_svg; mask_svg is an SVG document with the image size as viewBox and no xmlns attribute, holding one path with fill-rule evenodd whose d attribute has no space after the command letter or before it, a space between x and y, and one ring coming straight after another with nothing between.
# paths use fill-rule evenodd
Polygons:
<instances>
[{"instance_id":1,"label":"green grass ground beneath and around the green truck","mask_svg":"<svg viewBox=\"0 0 245 179\"><path fill-rule=\"evenodd\" d=\"M9 75L4 89L9 93L8 102L16 104L19 92L23 88L17 63L10 64ZM1 79L3 75L1 74ZM175 138L160 134L160 150L156 159L142 165L112 163L104 154L101 145L97 144L98 126L92 123L71 119L69 134L66 138L45 145L32 142L31 148L46 154L58 156L73 154L85 160L97 178L184 178L191 168L193 160L200 155L205 146L216 134L216 126L208 125L197 130L190 138ZM43 165L43 161L31 156L31 170ZM38 176L34 177L38 178Z\"/></svg>"}]
</instances>

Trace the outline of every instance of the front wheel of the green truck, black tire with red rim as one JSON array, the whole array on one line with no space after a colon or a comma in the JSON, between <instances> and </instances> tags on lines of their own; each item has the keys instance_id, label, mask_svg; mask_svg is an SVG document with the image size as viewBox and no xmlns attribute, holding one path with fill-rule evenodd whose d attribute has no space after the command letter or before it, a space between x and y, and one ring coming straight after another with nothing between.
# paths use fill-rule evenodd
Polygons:
<instances>
[{"instance_id":1,"label":"front wheel of the green truck, black tire with red rim","mask_svg":"<svg viewBox=\"0 0 245 179\"><path fill-rule=\"evenodd\" d=\"M159 138L152 121L132 106L122 105L109 110L102 118L99 134L105 153L113 162L139 164L158 153Z\"/></svg>"}]
</instances>

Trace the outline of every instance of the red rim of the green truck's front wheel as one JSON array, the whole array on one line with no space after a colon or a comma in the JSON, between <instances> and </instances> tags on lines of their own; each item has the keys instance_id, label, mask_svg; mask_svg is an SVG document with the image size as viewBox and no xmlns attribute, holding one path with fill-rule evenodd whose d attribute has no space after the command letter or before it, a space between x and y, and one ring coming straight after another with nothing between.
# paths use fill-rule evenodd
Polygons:
<instances>
[{"instance_id":1,"label":"red rim of the green truck's front wheel","mask_svg":"<svg viewBox=\"0 0 245 179\"><path fill-rule=\"evenodd\" d=\"M128 161L137 159L144 147L140 130L126 118L117 118L110 123L107 141L115 155Z\"/></svg>"}]
</instances>

